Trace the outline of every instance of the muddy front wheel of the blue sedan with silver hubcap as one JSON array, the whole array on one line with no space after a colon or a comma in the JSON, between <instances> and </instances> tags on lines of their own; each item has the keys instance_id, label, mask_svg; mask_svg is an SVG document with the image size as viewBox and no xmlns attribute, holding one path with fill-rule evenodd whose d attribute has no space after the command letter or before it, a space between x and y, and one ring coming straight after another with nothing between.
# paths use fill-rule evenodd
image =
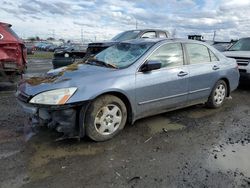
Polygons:
<instances>
[{"instance_id":1,"label":"muddy front wheel of the blue sedan with silver hubcap","mask_svg":"<svg viewBox=\"0 0 250 188\"><path fill-rule=\"evenodd\" d=\"M95 99L86 111L86 134L94 141L106 141L117 135L127 121L125 104L116 96Z\"/></svg>"}]
</instances>

